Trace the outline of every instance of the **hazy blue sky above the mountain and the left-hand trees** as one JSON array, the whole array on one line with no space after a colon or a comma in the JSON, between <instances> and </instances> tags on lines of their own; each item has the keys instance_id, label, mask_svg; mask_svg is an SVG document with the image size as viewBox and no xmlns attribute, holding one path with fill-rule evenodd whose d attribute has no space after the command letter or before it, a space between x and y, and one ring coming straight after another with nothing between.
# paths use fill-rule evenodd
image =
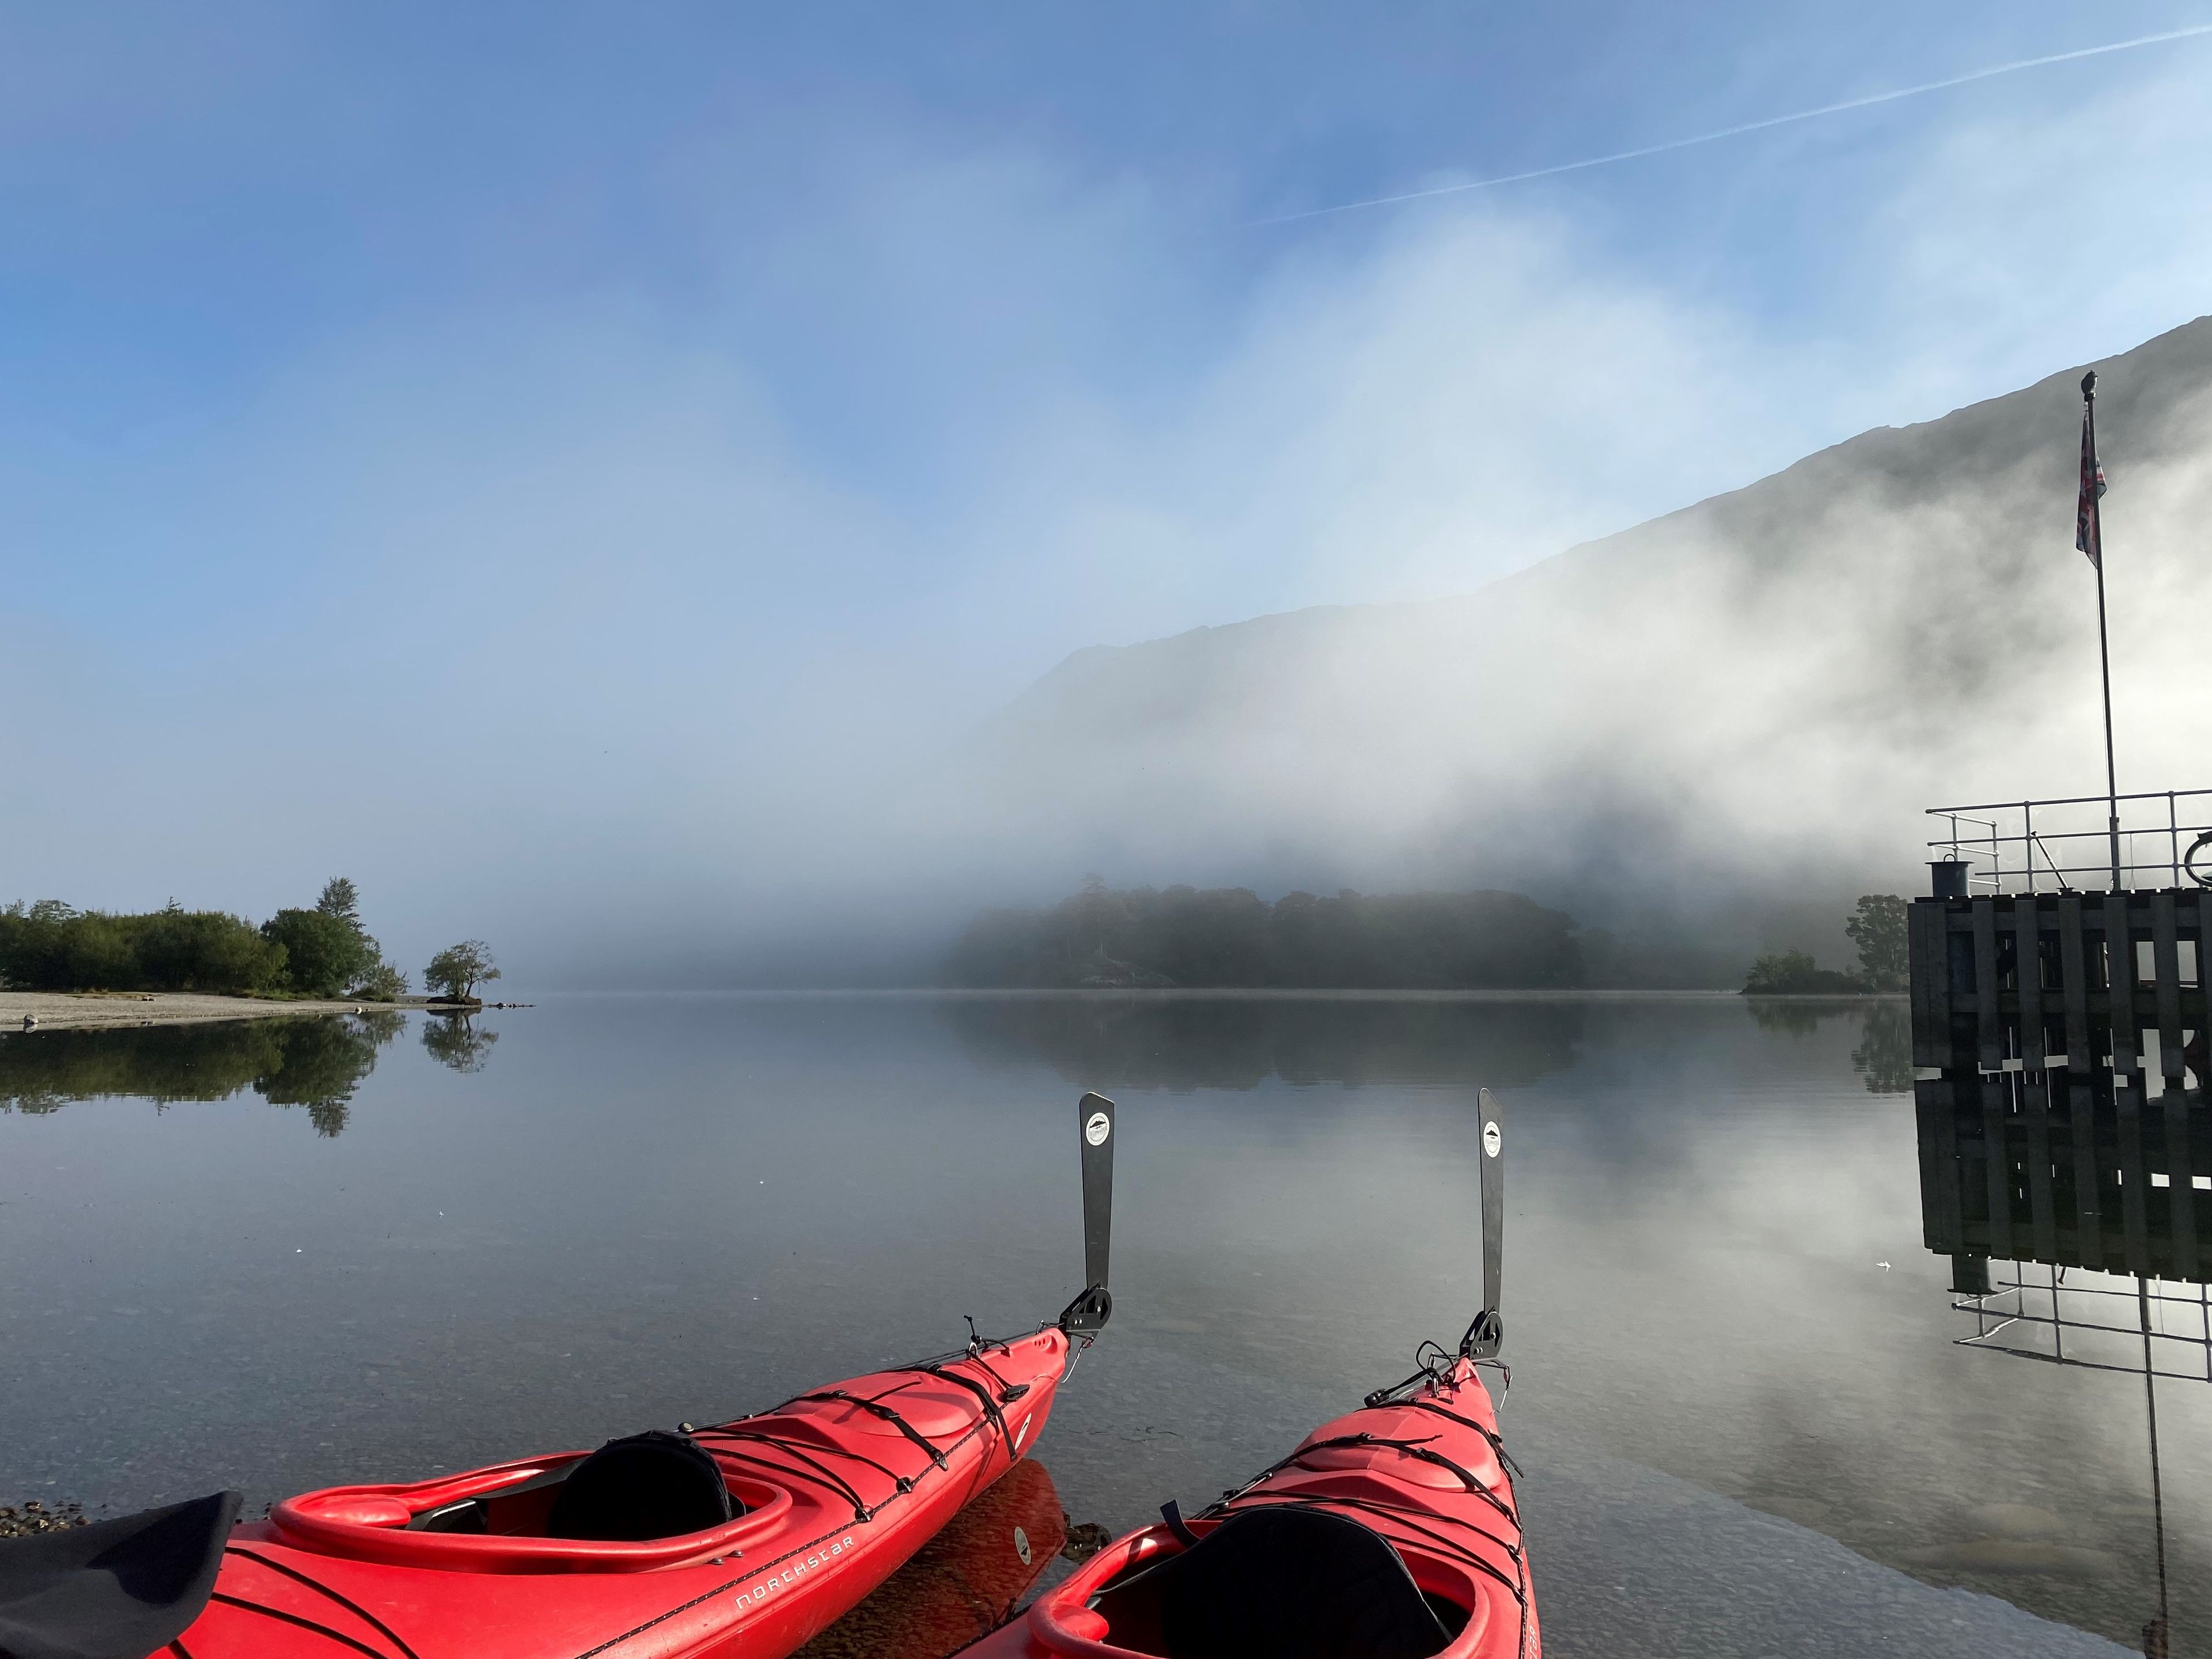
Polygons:
<instances>
[{"instance_id":1,"label":"hazy blue sky above the mountain and the left-hand trees","mask_svg":"<svg viewBox=\"0 0 2212 1659\"><path fill-rule=\"evenodd\" d=\"M2205 22L4 7L0 898L349 869L555 978L743 927L1073 648L1467 591L2208 310L2212 38L1259 221Z\"/></svg>"}]
</instances>

